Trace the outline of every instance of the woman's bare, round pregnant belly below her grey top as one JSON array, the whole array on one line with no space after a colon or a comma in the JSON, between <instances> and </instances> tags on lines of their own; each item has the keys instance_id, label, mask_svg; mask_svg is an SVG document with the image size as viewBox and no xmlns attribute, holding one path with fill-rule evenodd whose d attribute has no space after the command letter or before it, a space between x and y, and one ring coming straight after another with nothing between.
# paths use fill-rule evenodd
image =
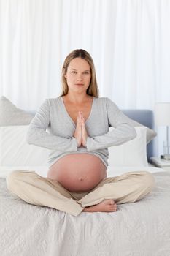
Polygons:
<instances>
[{"instance_id":1,"label":"woman's bare, round pregnant belly below her grey top","mask_svg":"<svg viewBox=\"0 0 170 256\"><path fill-rule=\"evenodd\" d=\"M107 177L107 169L92 154L68 154L55 162L47 173L71 192L88 191Z\"/></svg>"}]
</instances>

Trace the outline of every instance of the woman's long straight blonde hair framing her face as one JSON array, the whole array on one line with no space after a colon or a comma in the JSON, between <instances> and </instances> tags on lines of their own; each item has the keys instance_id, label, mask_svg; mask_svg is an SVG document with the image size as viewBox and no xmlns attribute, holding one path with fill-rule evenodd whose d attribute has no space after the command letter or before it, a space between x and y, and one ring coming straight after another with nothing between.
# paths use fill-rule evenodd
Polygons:
<instances>
[{"instance_id":1,"label":"woman's long straight blonde hair framing her face","mask_svg":"<svg viewBox=\"0 0 170 256\"><path fill-rule=\"evenodd\" d=\"M96 71L93 64L93 59L86 50L82 50L82 49L73 50L71 53L69 53L68 56L66 56L66 59L63 62L62 78L61 78L62 80L61 96L66 95L69 91L69 87L66 83L66 78L64 75L66 75L70 61L72 61L72 59L75 59L75 58L82 58L88 61L88 64L90 65L91 79L90 79L90 85L88 86L88 89L86 92L90 96L99 97L99 90L98 90L98 85L96 80Z\"/></svg>"}]
</instances>

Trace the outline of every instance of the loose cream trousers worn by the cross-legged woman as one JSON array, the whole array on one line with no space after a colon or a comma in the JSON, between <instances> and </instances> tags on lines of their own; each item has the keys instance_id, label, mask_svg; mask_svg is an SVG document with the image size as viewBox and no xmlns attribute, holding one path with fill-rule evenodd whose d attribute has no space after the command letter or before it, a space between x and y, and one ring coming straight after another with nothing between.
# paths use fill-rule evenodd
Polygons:
<instances>
[{"instance_id":1,"label":"loose cream trousers worn by the cross-legged woman","mask_svg":"<svg viewBox=\"0 0 170 256\"><path fill-rule=\"evenodd\" d=\"M70 192L58 181L34 171L14 170L7 176L7 188L22 200L36 206L48 206L77 216L86 206L114 199L115 203L133 203L147 195L155 185L151 173L136 171L104 178L88 192Z\"/></svg>"}]
</instances>

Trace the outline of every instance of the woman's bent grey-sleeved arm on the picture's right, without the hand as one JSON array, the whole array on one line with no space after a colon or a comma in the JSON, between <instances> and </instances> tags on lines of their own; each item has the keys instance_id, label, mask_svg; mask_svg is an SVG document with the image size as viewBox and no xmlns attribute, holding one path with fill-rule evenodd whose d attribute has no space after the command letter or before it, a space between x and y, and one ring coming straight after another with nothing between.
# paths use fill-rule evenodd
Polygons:
<instances>
[{"instance_id":1,"label":"woman's bent grey-sleeved arm on the picture's right, without the hand","mask_svg":"<svg viewBox=\"0 0 170 256\"><path fill-rule=\"evenodd\" d=\"M88 137L86 142L88 151L120 145L136 137L136 130L131 126L128 116L125 116L111 99L106 99L109 127L115 129L104 135Z\"/></svg>"}]
</instances>

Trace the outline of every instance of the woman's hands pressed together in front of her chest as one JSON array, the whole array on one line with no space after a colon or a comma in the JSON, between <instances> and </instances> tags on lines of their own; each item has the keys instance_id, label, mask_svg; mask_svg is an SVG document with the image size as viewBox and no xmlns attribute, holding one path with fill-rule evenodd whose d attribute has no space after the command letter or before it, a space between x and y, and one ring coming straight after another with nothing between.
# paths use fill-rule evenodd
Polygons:
<instances>
[{"instance_id":1,"label":"woman's hands pressed together in front of her chest","mask_svg":"<svg viewBox=\"0 0 170 256\"><path fill-rule=\"evenodd\" d=\"M82 112L79 111L77 116L76 129L74 132L74 138L77 139L78 148L80 146L86 147L88 133L85 129L85 118L82 116Z\"/></svg>"}]
</instances>

